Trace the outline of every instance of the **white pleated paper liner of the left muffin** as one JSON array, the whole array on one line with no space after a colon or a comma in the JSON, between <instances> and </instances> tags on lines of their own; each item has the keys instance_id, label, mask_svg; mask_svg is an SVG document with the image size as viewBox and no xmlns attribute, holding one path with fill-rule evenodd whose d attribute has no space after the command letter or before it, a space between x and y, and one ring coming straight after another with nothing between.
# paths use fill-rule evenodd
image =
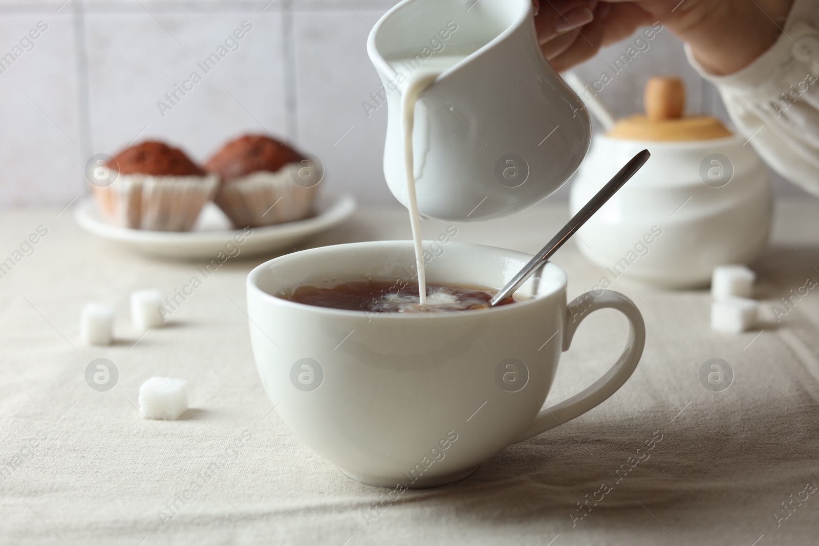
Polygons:
<instances>
[{"instance_id":1,"label":"white pleated paper liner of the left muffin","mask_svg":"<svg viewBox=\"0 0 819 546\"><path fill-rule=\"evenodd\" d=\"M110 186L92 186L106 219L122 228L186 232L219 186L215 174L120 174Z\"/></svg>"}]
</instances>

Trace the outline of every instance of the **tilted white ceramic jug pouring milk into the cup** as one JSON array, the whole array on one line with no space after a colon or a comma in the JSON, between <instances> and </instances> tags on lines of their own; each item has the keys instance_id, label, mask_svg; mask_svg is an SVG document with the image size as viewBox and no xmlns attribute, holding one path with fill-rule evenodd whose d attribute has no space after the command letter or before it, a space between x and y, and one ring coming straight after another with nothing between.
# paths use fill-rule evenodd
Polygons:
<instances>
[{"instance_id":1,"label":"tilted white ceramic jug pouring milk into the cup","mask_svg":"<svg viewBox=\"0 0 819 546\"><path fill-rule=\"evenodd\" d=\"M387 92L384 175L407 205L401 93L439 70L414 106L419 214L452 222L535 205L577 169L590 142L580 99L538 47L532 0L404 0L367 43Z\"/></svg>"}]
</instances>

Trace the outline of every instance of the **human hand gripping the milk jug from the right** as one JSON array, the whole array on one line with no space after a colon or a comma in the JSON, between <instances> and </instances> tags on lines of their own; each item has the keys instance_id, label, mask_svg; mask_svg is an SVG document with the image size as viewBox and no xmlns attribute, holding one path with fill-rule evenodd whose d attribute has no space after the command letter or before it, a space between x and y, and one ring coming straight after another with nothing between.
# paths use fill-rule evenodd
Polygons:
<instances>
[{"instance_id":1,"label":"human hand gripping the milk jug from the right","mask_svg":"<svg viewBox=\"0 0 819 546\"><path fill-rule=\"evenodd\" d=\"M794 0L533 0L541 50L563 71L594 56L609 43L641 26L660 22L689 43L701 65L713 74L731 74L771 47ZM591 6L594 6L593 8ZM589 20L586 11L592 15ZM591 11L594 9L594 11ZM578 14L586 22L578 24ZM575 27L559 29L569 20ZM565 28L563 24L562 28ZM564 47L568 43L568 47Z\"/></svg>"}]
</instances>

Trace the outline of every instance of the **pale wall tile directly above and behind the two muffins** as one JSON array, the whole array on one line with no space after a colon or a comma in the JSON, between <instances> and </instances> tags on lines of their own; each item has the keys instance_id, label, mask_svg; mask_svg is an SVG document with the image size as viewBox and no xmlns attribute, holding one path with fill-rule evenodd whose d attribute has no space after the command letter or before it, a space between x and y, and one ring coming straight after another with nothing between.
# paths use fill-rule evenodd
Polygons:
<instances>
[{"instance_id":1,"label":"pale wall tile directly above and behind the two muffins","mask_svg":"<svg viewBox=\"0 0 819 546\"><path fill-rule=\"evenodd\" d=\"M242 131L283 134L281 13L169 13L157 18L161 25L144 12L85 16L94 151L114 151L134 138L162 138L204 160ZM245 21L251 29L247 33ZM244 37L229 39L236 29ZM226 39L238 49L228 50L212 68L205 65ZM201 81L185 83L194 72ZM192 86L185 95L175 89L183 84ZM176 97L167 99L165 93L172 92Z\"/></svg>"}]
</instances>

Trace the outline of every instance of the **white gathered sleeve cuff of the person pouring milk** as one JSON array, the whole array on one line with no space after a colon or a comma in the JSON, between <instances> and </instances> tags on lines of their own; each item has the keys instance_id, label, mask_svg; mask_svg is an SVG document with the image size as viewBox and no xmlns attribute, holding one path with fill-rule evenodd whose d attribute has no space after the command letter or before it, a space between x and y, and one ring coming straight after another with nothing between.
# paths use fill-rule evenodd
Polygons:
<instances>
[{"instance_id":1,"label":"white gathered sleeve cuff of the person pouring milk","mask_svg":"<svg viewBox=\"0 0 819 546\"><path fill-rule=\"evenodd\" d=\"M819 196L819 1L796 0L776 43L727 76L708 74L736 128L762 159L791 182Z\"/></svg>"}]
</instances>

